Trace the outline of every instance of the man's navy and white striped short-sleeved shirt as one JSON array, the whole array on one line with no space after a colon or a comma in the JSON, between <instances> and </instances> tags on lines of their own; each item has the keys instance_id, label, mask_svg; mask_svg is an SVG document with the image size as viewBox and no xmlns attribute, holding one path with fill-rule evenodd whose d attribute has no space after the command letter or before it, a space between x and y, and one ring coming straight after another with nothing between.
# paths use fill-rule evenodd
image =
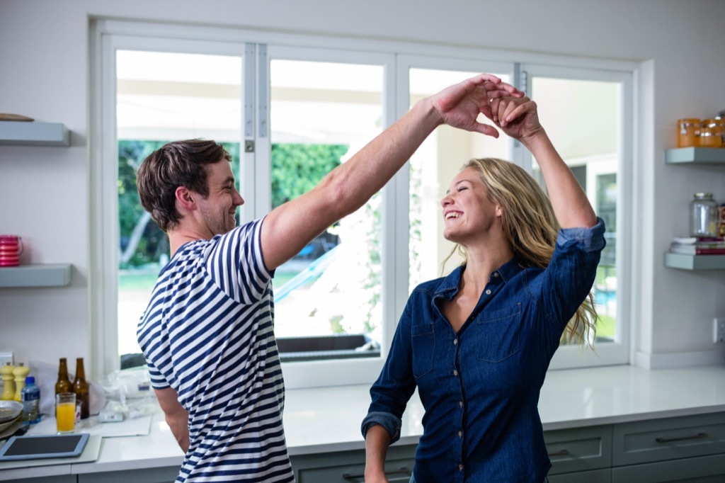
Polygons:
<instances>
[{"instance_id":1,"label":"man's navy and white striped short-sleeved shirt","mask_svg":"<svg viewBox=\"0 0 725 483\"><path fill-rule=\"evenodd\" d=\"M138 323L155 389L188 410L177 482L293 482L262 220L184 244Z\"/></svg>"}]
</instances>

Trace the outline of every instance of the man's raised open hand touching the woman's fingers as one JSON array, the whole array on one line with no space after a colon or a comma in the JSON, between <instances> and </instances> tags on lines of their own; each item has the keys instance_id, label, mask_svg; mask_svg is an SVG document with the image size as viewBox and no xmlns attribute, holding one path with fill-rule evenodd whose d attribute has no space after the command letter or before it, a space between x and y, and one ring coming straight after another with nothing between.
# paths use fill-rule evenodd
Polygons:
<instances>
[{"instance_id":1,"label":"man's raised open hand touching the woman's fingers","mask_svg":"<svg viewBox=\"0 0 725 483\"><path fill-rule=\"evenodd\" d=\"M493 126L479 123L476 118L483 114L490 119L492 111L489 100L504 96L515 99L522 97L523 92L502 82L495 75L479 74L445 88L429 99L439 113L441 123L497 138L499 134Z\"/></svg>"}]
</instances>

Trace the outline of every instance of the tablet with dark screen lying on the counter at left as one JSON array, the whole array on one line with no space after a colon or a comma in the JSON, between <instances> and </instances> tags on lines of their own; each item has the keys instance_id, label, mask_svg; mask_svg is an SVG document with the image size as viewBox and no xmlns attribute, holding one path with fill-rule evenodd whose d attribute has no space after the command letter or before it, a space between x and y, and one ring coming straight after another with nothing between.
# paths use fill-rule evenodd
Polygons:
<instances>
[{"instance_id":1,"label":"tablet with dark screen lying on the counter at left","mask_svg":"<svg viewBox=\"0 0 725 483\"><path fill-rule=\"evenodd\" d=\"M80 456L86 442L88 433L14 436L0 448L0 461Z\"/></svg>"}]
</instances>

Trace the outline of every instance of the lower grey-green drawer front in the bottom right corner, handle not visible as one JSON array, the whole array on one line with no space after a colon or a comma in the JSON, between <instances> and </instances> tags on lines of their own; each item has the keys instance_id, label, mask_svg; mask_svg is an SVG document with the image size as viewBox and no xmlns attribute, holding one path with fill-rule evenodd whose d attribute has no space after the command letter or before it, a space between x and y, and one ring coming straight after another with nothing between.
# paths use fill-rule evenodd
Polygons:
<instances>
[{"instance_id":1,"label":"lower grey-green drawer front in the bottom right corner, handle not visible","mask_svg":"<svg viewBox=\"0 0 725 483\"><path fill-rule=\"evenodd\" d=\"M722 483L725 455L659 461L612 469L612 483Z\"/></svg>"}]
</instances>

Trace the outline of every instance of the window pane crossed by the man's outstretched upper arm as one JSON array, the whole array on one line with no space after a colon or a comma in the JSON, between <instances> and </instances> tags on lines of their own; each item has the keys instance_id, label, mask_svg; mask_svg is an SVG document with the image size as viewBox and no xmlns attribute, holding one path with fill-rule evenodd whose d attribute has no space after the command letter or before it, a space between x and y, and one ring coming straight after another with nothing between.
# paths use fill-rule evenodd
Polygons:
<instances>
[{"instance_id":1,"label":"window pane crossed by the man's outstretched upper arm","mask_svg":"<svg viewBox=\"0 0 725 483\"><path fill-rule=\"evenodd\" d=\"M270 61L273 207L312 189L381 132L383 74L378 65ZM380 204L377 194L277 268L275 332L284 360L305 349L337 350L331 358L378 355L354 348L379 344L382 330ZM310 339L293 339L302 337ZM325 358L297 360L307 356Z\"/></svg>"}]
</instances>

